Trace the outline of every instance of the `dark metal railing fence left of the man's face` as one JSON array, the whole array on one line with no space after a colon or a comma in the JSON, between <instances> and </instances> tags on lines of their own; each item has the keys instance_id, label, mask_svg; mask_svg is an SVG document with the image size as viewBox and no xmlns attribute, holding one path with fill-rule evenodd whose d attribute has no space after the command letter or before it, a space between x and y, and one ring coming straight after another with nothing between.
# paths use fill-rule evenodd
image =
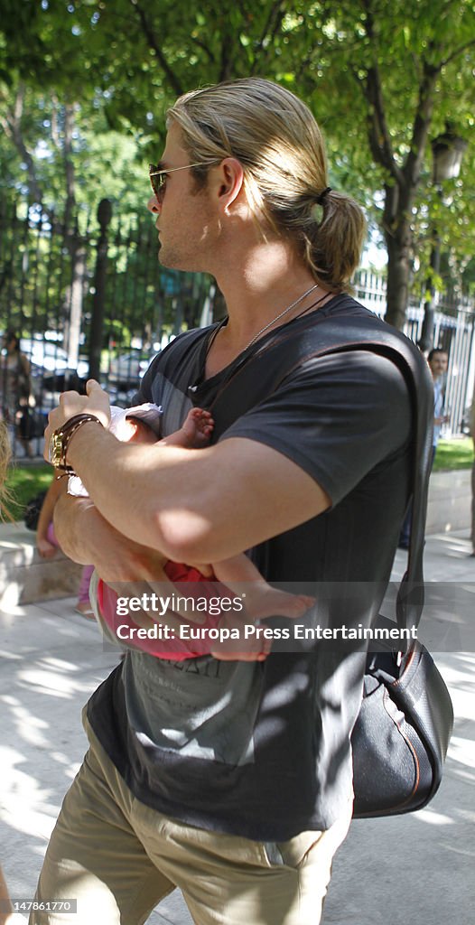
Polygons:
<instances>
[{"instance_id":1,"label":"dark metal railing fence left of the man's face","mask_svg":"<svg viewBox=\"0 0 475 925\"><path fill-rule=\"evenodd\" d=\"M73 369L98 345L111 356L134 343L149 349L199 323L210 290L207 277L160 267L157 251L151 217L121 222L107 200L68 225L0 203L0 327L59 339Z\"/></svg>"}]
</instances>

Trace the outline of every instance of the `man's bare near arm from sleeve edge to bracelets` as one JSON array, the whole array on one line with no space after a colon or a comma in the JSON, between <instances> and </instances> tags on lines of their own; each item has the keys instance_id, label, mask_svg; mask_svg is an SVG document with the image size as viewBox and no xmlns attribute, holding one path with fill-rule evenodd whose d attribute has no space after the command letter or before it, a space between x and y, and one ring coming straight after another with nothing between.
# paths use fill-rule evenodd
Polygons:
<instances>
[{"instance_id":1,"label":"man's bare near arm from sleeve edge to bracelets","mask_svg":"<svg viewBox=\"0 0 475 925\"><path fill-rule=\"evenodd\" d=\"M67 462L109 524L172 561L227 559L330 503L295 462L243 438L201 450L131 446L86 424Z\"/></svg>"}]
</instances>

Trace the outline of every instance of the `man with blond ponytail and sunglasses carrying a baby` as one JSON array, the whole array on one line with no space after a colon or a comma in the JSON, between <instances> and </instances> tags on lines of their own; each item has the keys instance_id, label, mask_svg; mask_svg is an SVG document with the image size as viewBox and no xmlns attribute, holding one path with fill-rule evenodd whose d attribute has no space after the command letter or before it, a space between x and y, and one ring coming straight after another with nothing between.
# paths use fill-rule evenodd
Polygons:
<instances>
[{"instance_id":1,"label":"man with blond ponytail and sunglasses carrying a baby","mask_svg":"<svg viewBox=\"0 0 475 925\"><path fill-rule=\"evenodd\" d=\"M156 580L164 555L209 573L249 550L271 583L330 589L331 626L359 583L369 624L408 503L411 404L382 353L318 355L329 326L357 348L384 328L348 294L361 210L330 189L308 107L267 80L187 93L167 127L150 169L160 261L212 274L227 316L173 341L136 401L162 407L164 437L208 409L213 440L118 443L97 383L64 395L46 443L90 499L59 502L61 546L115 586ZM273 643L260 663L128 651L88 704L38 900L77 897L77 925L140 925L179 887L198 925L317 925L351 818L364 665L363 648L321 644Z\"/></svg>"}]
</instances>

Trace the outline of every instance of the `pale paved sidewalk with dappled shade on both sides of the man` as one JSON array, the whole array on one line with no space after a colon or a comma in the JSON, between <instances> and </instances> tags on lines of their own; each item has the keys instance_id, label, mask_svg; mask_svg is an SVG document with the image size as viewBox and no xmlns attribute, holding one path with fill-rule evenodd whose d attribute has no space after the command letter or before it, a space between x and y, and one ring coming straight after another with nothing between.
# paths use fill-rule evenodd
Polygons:
<instances>
[{"instance_id":1,"label":"pale paved sidewalk with dappled shade on both sides of the man","mask_svg":"<svg viewBox=\"0 0 475 925\"><path fill-rule=\"evenodd\" d=\"M469 552L468 531L429 537L427 580L475 592ZM395 580L404 567L398 551ZM48 836L86 747L81 706L116 664L95 623L73 605L67 599L0 611L0 859L15 897L34 893ZM325 925L473 921L475 652L444 653L437 662L457 716L445 780L419 813L352 823L335 860ZM191 925L181 894L168 897L149 922Z\"/></svg>"}]
</instances>

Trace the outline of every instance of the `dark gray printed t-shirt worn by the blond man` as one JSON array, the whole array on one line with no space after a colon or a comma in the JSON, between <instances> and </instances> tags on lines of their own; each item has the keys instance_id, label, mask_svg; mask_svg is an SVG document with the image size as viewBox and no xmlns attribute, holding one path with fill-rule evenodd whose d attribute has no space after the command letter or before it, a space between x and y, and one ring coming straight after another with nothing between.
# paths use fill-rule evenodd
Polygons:
<instances>
[{"instance_id":1,"label":"dark gray printed t-shirt worn by the blond man","mask_svg":"<svg viewBox=\"0 0 475 925\"><path fill-rule=\"evenodd\" d=\"M349 298L321 313L369 314ZM192 403L211 406L229 373L204 382L209 331L184 337L179 364L180 339L136 397L162 405L164 436ZM267 580L306 583L318 623L368 625L379 609L408 500L409 433L403 376L359 350L298 367L220 436L284 453L332 499L328 512L250 550ZM129 652L88 716L142 802L206 829L284 841L345 811L364 662L362 649L323 642L275 646L263 663Z\"/></svg>"}]
</instances>

